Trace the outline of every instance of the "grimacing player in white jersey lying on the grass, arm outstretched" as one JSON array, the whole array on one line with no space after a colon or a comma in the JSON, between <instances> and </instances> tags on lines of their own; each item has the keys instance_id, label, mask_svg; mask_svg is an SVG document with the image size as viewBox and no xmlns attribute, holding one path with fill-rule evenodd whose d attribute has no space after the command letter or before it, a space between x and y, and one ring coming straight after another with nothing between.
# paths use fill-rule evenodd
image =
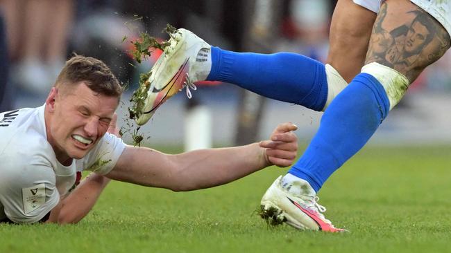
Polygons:
<instances>
[{"instance_id":1,"label":"grimacing player in white jersey lying on the grass, arm outstretched","mask_svg":"<svg viewBox=\"0 0 451 253\"><path fill-rule=\"evenodd\" d=\"M76 223L110 179L173 191L223 185L296 158L297 127L270 140L169 155L124 144L115 127L122 88L92 57L66 62L45 104L0 113L0 221ZM109 133L107 133L107 130ZM94 171L74 191L77 172Z\"/></svg>"}]
</instances>

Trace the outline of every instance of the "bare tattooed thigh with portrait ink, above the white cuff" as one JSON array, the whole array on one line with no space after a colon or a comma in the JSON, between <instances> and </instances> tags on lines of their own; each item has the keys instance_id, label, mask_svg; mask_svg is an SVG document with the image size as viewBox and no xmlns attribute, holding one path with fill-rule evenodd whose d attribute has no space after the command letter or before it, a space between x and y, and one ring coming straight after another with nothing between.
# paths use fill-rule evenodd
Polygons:
<instances>
[{"instance_id":1,"label":"bare tattooed thigh with portrait ink, above the white cuff","mask_svg":"<svg viewBox=\"0 0 451 253\"><path fill-rule=\"evenodd\" d=\"M414 82L448 48L450 35L434 17L411 1L387 0L373 27L365 64L388 66Z\"/></svg>"}]
</instances>

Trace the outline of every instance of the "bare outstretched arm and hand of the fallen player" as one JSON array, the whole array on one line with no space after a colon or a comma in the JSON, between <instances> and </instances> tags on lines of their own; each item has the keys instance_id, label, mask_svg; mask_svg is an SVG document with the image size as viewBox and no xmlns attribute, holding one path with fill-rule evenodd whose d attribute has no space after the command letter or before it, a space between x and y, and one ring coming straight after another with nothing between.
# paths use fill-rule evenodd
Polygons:
<instances>
[{"instance_id":1,"label":"bare outstretched arm and hand of the fallen player","mask_svg":"<svg viewBox=\"0 0 451 253\"><path fill-rule=\"evenodd\" d=\"M126 147L108 178L137 185L190 191L223 185L270 165L287 167L298 143L291 123L280 124L269 140L241 147L201 149L168 155L143 147Z\"/></svg>"}]
</instances>

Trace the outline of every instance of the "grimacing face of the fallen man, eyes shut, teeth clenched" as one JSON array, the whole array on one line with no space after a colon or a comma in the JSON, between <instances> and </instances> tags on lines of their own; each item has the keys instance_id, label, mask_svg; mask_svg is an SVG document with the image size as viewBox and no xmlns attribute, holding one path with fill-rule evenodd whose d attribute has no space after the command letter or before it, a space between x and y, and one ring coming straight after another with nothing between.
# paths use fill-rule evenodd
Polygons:
<instances>
[{"instance_id":1,"label":"grimacing face of the fallen man, eyes shut, teeth clenched","mask_svg":"<svg viewBox=\"0 0 451 253\"><path fill-rule=\"evenodd\" d=\"M53 87L47 139L60 162L86 156L108 130L119 100L92 91L84 82L65 90Z\"/></svg>"}]
</instances>

